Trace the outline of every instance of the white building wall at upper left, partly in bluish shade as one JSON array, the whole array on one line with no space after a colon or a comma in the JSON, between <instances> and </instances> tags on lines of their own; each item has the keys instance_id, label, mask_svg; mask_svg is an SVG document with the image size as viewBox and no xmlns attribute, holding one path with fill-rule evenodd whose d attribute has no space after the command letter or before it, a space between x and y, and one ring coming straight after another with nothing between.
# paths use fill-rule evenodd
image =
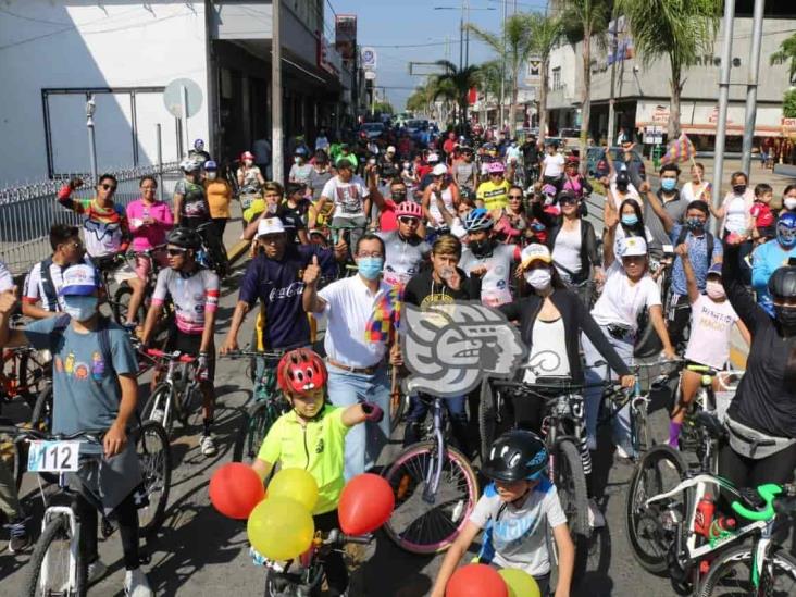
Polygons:
<instances>
[{"instance_id":1,"label":"white building wall at upper left, partly in bluish shade","mask_svg":"<svg viewBox=\"0 0 796 597\"><path fill-rule=\"evenodd\" d=\"M208 138L204 2L202 0L7 0L0 12L0 186L47 176L42 89L161 87L189 77L202 90L189 120L191 139ZM53 170L87 172L85 96L50 96ZM100 171L133 164L128 94L96 96ZM176 156L174 117L160 94L137 94L138 158ZM212 148L210 148L212 152Z\"/></svg>"}]
</instances>

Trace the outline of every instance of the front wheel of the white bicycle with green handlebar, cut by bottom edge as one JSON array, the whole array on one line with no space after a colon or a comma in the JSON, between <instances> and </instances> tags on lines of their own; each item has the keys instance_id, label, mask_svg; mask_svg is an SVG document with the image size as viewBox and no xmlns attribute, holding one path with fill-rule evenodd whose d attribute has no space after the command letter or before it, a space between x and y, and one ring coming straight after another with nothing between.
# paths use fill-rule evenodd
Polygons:
<instances>
[{"instance_id":1,"label":"front wheel of the white bicycle with green handlebar, cut by bottom edge","mask_svg":"<svg viewBox=\"0 0 796 597\"><path fill-rule=\"evenodd\" d=\"M772 551L766 560L759 587L751 582L754 546L738 546L724 551L713 560L699 595L796 595L796 559L782 548Z\"/></svg>"}]
</instances>

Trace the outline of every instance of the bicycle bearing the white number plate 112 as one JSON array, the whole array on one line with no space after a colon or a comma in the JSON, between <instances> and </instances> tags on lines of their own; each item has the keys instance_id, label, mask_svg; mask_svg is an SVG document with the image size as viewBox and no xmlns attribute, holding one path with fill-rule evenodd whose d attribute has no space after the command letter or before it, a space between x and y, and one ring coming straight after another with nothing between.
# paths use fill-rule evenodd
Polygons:
<instances>
[{"instance_id":1,"label":"bicycle bearing the white number plate 112","mask_svg":"<svg viewBox=\"0 0 796 597\"><path fill-rule=\"evenodd\" d=\"M74 499L76 492L69 487L67 473L78 470L80 460L88 456L96 459L101 455L80 455L80 444L101 446L104 430L86 431L75 434L50 435L36 430L15 426L1 426L0 433L13 435L16 440L33 441L29 451L28 470L58 474L58 492L50 496L50 505L45 510L41 521L41 535L34 547L29 561L29 572L25 582L24 595L83 597L88 589L88 562L83 561L78 546L80 536L80 520L75 511ZM165 505L169 499L171 484L171 457L169 441L163 428L153 422L144 423L136 430L137 451L148 458L144 467L144 488L147 497L159 496L154 501L149 500L145 515L151 511L151 517L140 531L146 536L157 532L162 522ZM159 446L156 446L159 444ZM162 458L153 457L159 448ZM140 456L139 456L140 458ZM152 463L159 463L160 471ZM47 503L48 496L40 486L41 497ZM85 496L102 512L102 503L90 492ZM64 502L67 501L66 505ZM139 510L140 517L141 510ZM102 533L110 536L114 528L104 517L102 518ZM146 557L142 558L146 560Z\"/></svg>"}]
</instances>

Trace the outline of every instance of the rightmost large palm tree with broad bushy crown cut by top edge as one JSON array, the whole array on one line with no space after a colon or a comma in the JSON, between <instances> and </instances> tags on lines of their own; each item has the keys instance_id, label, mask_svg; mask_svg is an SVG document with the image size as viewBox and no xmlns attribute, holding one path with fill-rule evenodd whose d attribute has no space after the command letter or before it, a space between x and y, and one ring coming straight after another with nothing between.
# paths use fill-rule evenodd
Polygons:
<instances>
[{"instance_id":1,"label":"rightmost large palm tree with broad bushy crown cut by top edge","mask_svg":"<svg viewBox=\"0 0 796 597\"><path fill-rule=\"evenodd\" d=\"M680 96L685 80L683 70L697 55L710 51L719 30L722 0L617 0L627 18L633 43L649 66L669 58L672 101L669 110L669 138L680 136Z\"/></svg>"}]
</instances>

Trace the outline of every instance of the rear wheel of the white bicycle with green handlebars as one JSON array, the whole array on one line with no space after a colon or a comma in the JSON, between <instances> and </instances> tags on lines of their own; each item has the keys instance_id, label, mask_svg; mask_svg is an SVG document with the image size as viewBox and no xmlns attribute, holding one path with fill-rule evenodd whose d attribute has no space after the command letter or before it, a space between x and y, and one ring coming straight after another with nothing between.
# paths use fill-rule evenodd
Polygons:
<instances>
[{"instance_id":1,"label":"rear wheel of the white bicycle with green handlebars","mask_svg":"<svg viewBox=\"0 0 796 597\"><path fill-rule=\"evenodd\" d=\"M658 462L662 464L667 460L671 464L670 470L657 467ZM654 471L648 471L650 464L655 467ZM650 506L644 506L644 502L648 498L674 487L673 484L664 485L661 472L671 475L676 474L676 482L680 483L687 470L688 467L677 450L667 445L660 445L655 446L638 461L631 476L624 508L625 531L636 561L652 574L662 574L669 569L667 556L671 543L676 537L672 536L672 532L667 532L661 526L659 518L671 502L667 501L661 505ZM656 486L650 488L643 485L646 481L656 483ZM681 514L685 513L687 503L683 501ZM685 520L685 517L683 515L681 520ZM642 523L644 523L644 526L639 528ZM649 537L649 540L652 542L655 551L645 548L645 537Z\"/></svg>"}]
</instances>

